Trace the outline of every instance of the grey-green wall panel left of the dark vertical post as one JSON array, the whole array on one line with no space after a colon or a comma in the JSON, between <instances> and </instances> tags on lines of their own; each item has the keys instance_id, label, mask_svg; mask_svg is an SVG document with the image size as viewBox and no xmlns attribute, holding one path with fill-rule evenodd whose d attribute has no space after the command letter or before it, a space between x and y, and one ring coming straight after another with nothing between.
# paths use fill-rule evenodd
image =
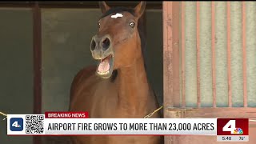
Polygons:
<instances>
[{"instance_id":1,"label":"grey-green wall panel left of the dark vertical post","mask_svg":"<svg viewBox=\"0 0 256 144\"><path fill-rule=\"evenodd\" d=\"M0 8L0 111L33 113L33 21L30 9ZM1 144L30 144L32 137L7 137L0 115Z\"/></svg>"}]
</instances>

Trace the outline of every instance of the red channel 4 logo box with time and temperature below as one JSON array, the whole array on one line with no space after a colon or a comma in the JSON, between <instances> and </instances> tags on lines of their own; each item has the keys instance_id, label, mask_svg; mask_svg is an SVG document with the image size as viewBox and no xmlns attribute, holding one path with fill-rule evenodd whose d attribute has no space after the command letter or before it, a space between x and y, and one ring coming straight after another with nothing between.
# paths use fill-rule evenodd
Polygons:
<instances>
[{"instance_id":1,"label":"red channel 4 logo box with time and temperature below","mask_svg":"<svg viewBox=\"0 0 256 144\"><path fill-rule=\"evenodd\" d=\"M218 118L217 119L218 142L248 142L249 119L248 118Z\"/></svg>"}]
</instances>

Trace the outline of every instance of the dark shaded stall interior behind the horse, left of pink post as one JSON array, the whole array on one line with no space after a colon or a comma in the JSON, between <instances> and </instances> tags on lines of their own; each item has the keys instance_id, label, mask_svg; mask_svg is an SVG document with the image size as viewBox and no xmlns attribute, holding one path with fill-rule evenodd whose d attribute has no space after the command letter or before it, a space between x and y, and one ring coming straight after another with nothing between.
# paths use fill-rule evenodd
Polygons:
<instances>
[{"instance_id":1,"label":"dark shaded stall interior behind the horse, left of pink post","mask_svg":"<svg viewBox=\"0 0 256 144\"><path fill-rule=\"evenodd\" d=\"M68 110L75 74L96 64L90 40L98 30L100 16L98 2L1 2L0 110L6 114ZM148 79L162 104L162 2L148 2L143 18ZM40 141L7 137L6 121L0 121L0 127L1 143ZM59 143L56 138L47 138L42 142Z\"/></svg>"}]
</instances>

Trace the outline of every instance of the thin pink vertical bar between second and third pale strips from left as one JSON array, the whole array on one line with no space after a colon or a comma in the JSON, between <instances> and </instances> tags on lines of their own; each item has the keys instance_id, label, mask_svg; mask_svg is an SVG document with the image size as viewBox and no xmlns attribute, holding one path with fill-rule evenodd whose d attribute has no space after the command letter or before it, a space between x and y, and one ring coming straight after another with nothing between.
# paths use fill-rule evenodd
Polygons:
<instances>
[{"instance_id":1,"label":"thin pink vertical bar between second and third pale strips from left","mask_svg":"<svg viewBox=\"0 0 256 144\"><path fill-rule=\"evenodd\" d=\"M211 50L212 50L212 81L213 81L213 107L216 107L216 64L215 64L215 3L211 2Z\"/></svg>"}]
</instances>

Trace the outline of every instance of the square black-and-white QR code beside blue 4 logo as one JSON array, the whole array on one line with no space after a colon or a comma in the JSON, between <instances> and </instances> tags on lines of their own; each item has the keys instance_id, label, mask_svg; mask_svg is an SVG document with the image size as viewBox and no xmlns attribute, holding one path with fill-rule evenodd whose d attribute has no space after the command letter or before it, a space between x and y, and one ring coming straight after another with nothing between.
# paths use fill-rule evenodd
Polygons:
<instances>
[{"instance_id":1,"label":"square black-and-white QR code beside blue 4 logo","mask_svg":"<svg viewBox=\"0 0 256 144\"><path fill-rule=\"evenodd\" d=\"M26 115L26 134L42 134L44 131L43 115Z\"/></svg>"}]
</instances>

